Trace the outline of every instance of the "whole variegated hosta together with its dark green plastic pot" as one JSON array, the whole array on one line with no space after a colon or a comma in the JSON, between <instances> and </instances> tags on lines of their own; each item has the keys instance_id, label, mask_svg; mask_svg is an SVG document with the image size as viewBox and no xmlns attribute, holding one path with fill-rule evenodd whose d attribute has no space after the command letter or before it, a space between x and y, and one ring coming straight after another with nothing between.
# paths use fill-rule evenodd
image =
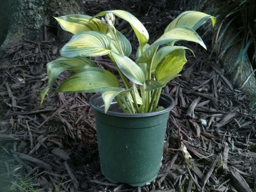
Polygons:
<instances>
[{"instance_id":1,"label":"whole variegated hosta together with its dark green plastic pot","mask_svg":"<svg viewBox=\"0 0 256 192\"><path fill-rule=\"evenodd\" d=\"M114 26L115 16L130 23L137 36L135 61L129 58L130 42ZM57 76L65 70L76 73L56 93L97 93L90 98L90 105L96 119L102 173L111 182L140 186L157 177L167 120L174 106L173 99L161 90L179 76L187 62L188 48L176 46L175 42L193 41L206 49L195 30L209 18L214 26L215 17L183 12L151 45L147 43L148 32L143 24L126 11L55 18L62 29L74 35L61 49L62 57L47 64L49 84L41 93L41 104ZM96 67L87 58L101 55L111 58L123 86L113 73Z\"/></svg>"}]
</instances>

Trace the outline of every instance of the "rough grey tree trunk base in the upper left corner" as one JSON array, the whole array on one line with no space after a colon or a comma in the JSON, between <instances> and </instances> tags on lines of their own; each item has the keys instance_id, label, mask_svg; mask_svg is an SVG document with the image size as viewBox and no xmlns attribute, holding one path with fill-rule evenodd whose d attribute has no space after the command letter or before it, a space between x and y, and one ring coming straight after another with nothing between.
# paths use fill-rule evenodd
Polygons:
<instances>
[{"instance_id":1,"label":"rough grey tree trunk base in the upper left corner","mask_svg":"<svg viewBox=\"0 0 256 192\"><path fill-rule=\"evenodd\" d=\"M51 35L56 35L52 16L83 13L80 1L74 0L5 0L2 3L0 24L6 26L0 31L2 47L22 39L48 41Z\"/></svg>"}]
</instances>

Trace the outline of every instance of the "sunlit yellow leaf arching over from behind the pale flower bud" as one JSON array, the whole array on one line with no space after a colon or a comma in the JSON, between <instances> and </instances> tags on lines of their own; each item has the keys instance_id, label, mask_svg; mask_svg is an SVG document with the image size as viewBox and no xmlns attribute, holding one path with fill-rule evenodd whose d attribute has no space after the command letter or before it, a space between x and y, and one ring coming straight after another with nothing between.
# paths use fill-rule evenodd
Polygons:
<instances>
[{"instance_id":1,"label":"sunlit yellow leaf arching over from behind the pale flower bud","mask_svg":"<svg viewBox=\"0 0 256 192\"><path fill-rule=\"evenodd\" d=\"M130 23L131 27L134 29L134 32L138 38L139 44L141 47L144 47L144 45L148 42L148 31L143 26L143 24L138 20L134 15L132 15L129 12L123 11L123 10L112 10L112 11L105 11L100 12L99 14L95 15L94 17L102 17L106 15L107 13L112 12L117 17L122 18L123 20L126 20L128 23ZM93 17L93 18L94 18Z\"/></svg>"}]
</instances>

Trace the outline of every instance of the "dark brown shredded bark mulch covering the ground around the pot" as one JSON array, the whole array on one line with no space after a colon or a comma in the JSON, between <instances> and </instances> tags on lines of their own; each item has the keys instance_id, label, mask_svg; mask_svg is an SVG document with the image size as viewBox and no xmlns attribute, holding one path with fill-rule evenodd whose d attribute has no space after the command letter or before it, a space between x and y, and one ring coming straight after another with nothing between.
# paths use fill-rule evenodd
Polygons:
<instances>
[{"instance_id":1,"label":"dark brown shredded bark mulch covering the ground around the pot","mask_svg":"<svg viewBox=\"0 0 256 192\"><path fill-rule=\"evenodd\" d=\"M40 106L45 64L58 58L61 46L24 40L6 49L0 65L1 192L256 190L256 109L209 51L194 47L182 76L163 89L175 108L162 167L150 185L131 187L108 182L100 171L90 94L55 94L53 87ZM106 58L95 62L115 73Z\"/></svg>"}]
</instances>

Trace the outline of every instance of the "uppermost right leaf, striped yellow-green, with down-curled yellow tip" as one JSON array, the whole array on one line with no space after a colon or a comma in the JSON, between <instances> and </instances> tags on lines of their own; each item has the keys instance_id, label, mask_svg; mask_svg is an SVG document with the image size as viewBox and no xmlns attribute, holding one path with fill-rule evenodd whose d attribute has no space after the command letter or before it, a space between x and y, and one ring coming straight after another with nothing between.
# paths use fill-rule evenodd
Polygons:
<instances>
[{"instance_id":1,"label":"uppermost right leaf, striped yellow-green, with down-curled yellow tip","mask_svg":"<svg viewBox=\"0 0 256 192\"><path fill-rule=\"evenodd\" d=\"M189 28L192 28L194 30L198 29L200 26L202 26L205 22L207 22L208 19L212 20L212 27L214 27L216 23L216 18L207 15L202 12L196 12L196 11L186 11L181 13L175 20L173 20L165 29L165 32L168 32L176 27L180 26L187 26Z\"/></svg>"}]
</instances>

